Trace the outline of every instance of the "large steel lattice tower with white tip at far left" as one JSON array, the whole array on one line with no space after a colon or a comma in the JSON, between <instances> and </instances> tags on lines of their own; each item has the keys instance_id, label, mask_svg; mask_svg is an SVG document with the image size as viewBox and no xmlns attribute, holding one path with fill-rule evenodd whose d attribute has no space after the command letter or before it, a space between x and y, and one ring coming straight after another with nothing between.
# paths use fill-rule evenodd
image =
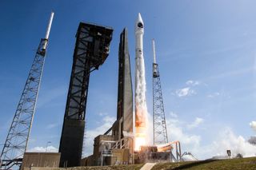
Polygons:
<instances>
[{"instance_id":1,"label":"large steel lattice tower with white tip at far left","mask_svg":"<svg viewBox=\"0 0 256 170\"><path fill-rule=\"evenodd\" d=\"M51 13L50 22L46 31L46 38L42 38L38 45L29 76L26 79L22 97L18 102L14 119L10 125L6 142L2 148L0 168L10 169L14 165L20 166L22 164L22 157L24 152L26 152L30 129L33 122L53 17L54 13Z\"/></svg>"}]
</instances>

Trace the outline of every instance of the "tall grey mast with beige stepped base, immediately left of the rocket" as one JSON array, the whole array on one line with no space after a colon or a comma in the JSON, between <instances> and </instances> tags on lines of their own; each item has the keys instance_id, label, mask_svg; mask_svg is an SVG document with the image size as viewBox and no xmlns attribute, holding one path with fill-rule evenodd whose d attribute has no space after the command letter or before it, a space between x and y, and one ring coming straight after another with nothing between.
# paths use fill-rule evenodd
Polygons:
<instances>
[{"instance_id":1,"label":"tall grey mast with beige stepped base, immediately left of the rocket","mask_svg":"<svg viewBox=\"0 0 256 170\"><path fill-rule=\"evenodd\" d=\"M128 49L128 30L120 34L118 50L117 120L94 138L94 153L82 159L82 165L134 164L133 90Z\"/></svg>"}]
</instances>

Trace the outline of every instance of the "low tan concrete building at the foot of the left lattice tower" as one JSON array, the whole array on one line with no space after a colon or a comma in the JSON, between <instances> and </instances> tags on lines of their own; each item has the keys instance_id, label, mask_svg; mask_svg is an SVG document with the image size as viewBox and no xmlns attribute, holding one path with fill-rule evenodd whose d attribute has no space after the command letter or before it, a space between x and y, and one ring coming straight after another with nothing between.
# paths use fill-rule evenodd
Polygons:
<instances>
[{"instance_id":1,"label":"low tan concrete building at the foot of the left lattice tower","mask_svg":"<svg viewBox=\"0 0 256 170\"><path fill-rule=\"evenodd\" d=\"M61 154L56 152L25 152L22 160L22 168L47 167L58 168Z\"/></svg>"}]
</instances>

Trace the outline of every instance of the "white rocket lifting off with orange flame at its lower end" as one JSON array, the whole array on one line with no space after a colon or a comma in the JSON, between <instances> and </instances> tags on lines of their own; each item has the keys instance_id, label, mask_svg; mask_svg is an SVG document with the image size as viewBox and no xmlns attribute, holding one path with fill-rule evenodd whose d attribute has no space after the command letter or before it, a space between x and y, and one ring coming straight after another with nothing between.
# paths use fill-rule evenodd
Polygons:
<instances>
[{"instance_id":1,"label":"white rocket lifting off with orange flame at its lower end","mask_svg":"<svg viewBox=\"0 0 256 170\"><path fill-rule=\"evenodd\" d=\"M135 127L136 133L145 133L146 128L146 80L145 64L143 57L143 34L144 23L141 14L138 14L138 20L135 23Z\"/></svg>"}]
</instances>

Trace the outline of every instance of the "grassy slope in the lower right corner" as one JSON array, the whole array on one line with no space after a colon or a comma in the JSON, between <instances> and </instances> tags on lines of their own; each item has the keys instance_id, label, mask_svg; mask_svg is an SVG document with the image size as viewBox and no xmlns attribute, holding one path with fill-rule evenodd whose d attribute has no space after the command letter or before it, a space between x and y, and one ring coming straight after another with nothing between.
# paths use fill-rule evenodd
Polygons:
<instances>
[{"instance_id":1,"label":"grassy slope in the lower right corner","mask_svg":"<svg viewBox=\"0 0 256 170\"><path fill-rule=\"evenodd\" d=\"M233 170L233 169L256 169L256 157L239 158L231 160L202 160L193 162L181 163L160 163L154 165L152 170L165 170L165 169L214 169L214 170Z\"/></svg>"}]
</instances>

